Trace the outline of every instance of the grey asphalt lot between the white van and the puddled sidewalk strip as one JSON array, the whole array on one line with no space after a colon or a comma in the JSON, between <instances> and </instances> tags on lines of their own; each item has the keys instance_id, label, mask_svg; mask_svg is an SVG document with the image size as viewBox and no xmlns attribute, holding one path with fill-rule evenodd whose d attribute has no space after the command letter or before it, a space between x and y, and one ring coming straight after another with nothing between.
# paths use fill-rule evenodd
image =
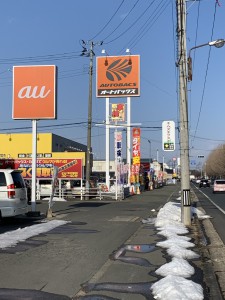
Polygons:
<instances>
[{"instance_id":1,"label":"grey asphalt lot between the white van and the puddled sidewalk strip","mask_svg":"<svg viewBox=\"0 0 225 300\"><path fill-rule=\"evenodd\" d=\"M102 268L109 255L138 231L141 220L178 191L179 186L167 186L120 202L57 202L53 206L55 218L71 223L0 251L0 299L26 299L19 298L16 289L20 289L20 293L21 289L51 293L48 298L40 294L37 295L40 298L27 299L73 297L81 284ZM46 213L47 203L37 204L36 209ZM1 223L0 232L40 221L8 219ZM11 298L1 298L2 293L11 293Z\"/></svg>"}]
</instances>

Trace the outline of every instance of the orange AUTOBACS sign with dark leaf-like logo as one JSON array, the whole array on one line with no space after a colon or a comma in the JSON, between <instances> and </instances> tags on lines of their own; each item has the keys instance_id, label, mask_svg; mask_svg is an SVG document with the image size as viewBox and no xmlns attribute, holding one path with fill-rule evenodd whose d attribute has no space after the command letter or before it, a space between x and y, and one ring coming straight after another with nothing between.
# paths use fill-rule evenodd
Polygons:
<instances>
[{"instance_id":1,"label":"orange AUTOBACS sign with dark leaf-like logo","mask_svg":"<svg viewBox=\"0 0 225 300\"><path fill-rule=\"evenodd\" d=\"M140 96L140 56L97 57L97 97Z\"/></svg>"}]
</instances>

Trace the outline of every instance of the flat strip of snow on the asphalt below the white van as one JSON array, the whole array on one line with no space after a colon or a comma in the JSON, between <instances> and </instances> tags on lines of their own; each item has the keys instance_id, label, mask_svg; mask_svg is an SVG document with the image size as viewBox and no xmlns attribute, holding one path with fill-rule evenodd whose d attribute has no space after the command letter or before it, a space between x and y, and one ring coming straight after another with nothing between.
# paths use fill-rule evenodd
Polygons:
<instances>
[{"instance_id":1,"label":"flat strip of snow on the asphalt below the white van","mask_svg":"<svg viewBox=\"0 0 225 300\"><path fill-rule=\"evenodd\" d=\"M33 236L48 232L58 226L64 225L68 221L53 220L45 223L19 228L14 231L9 231L0 234L0 248L9 248L16 246L21 241L25 241Z\"/></svg>"}]
</instances>

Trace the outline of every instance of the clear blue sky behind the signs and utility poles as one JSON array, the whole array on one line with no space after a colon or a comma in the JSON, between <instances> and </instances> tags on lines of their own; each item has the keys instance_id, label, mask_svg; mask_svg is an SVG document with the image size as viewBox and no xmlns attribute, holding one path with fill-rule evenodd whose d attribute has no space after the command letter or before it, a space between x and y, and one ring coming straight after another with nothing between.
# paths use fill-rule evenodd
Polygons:
<instances>
[{"instance_id":1,"label":"clear blue sky behind the signs and utility poles","mask_svg":"<svg viewBox=\"0 0 225 300\"><path fill-rule=\"evenodd\" d=\"M187 49L225 38L224 20L224 0L188 1ZM140 55L141 96L131 101L131 122L143 127L142 157L148 158L151 151L152 158L156 158L157 149L160 161L163 156L166 162L179 157L178 131L176 151L165 153L162 131L154 128L161 127L165 120L179 125L175 0L0 1L0 37L0 132L10 132L10 128L11 132L31 132L15 130L31 126L30 120L12 120L12 67L55 64L58 119L39 121L38 132L53 132L86 144L89 58L80 56L81 40L103 41L102 46L94 48L96 56L102 56L102 49L109 55L124 55L127 48L131 54ZM188 86L190 155L192 163L198 164L198 155L206 157L225 140L225 47L206 46L191 55L194 66L193 81ZM93 122L102 123L105 99L95 97L95 70L94 60ZM104 144L104 127L94 126L92 147L96 159L105 157Z\"/></svg>"}]
</instances>

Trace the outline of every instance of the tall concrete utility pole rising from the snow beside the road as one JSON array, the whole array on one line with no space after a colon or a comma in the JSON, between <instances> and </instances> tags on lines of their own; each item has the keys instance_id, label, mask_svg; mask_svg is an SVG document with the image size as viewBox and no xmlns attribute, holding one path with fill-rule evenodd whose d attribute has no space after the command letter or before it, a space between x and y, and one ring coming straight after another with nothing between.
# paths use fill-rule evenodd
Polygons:
<instances>
[{"instance_id":1,"label":"tall concrete utility pole rising from the snow beside the road","mask_svg":"<svg viewBox=\"0 0 225 300\"><path fill-rule=\"evenodd\" d=\"M179 68L179 110L180 110L180 164L181 164L181 220L191 225L190 170L189 170L189 129L187 97L187 60L186 60L186 3L176 0L177 35Z\"/></svg>"}]
</instances>

